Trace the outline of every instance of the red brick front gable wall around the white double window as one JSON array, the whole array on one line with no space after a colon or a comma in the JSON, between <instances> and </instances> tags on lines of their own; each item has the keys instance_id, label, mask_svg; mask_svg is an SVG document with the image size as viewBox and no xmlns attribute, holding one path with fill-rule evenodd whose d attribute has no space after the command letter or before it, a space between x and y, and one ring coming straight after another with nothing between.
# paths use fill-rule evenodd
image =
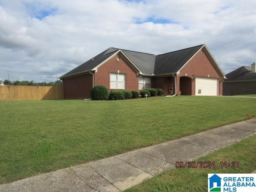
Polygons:
<instances>
[{"instance_id":1,"label":"red brick front gable wall around the white double window","mask_svg":"<svg viewBox=\"0 0 256 192\"><path fill-rule=\"evenodd\" d=\"M120 57L120 61L116 58ZM94 85L104 85L110 90L110 73L126 74L126 90L138 90L139 78L136 70L132 68L122 56L117 55L100 66L94 73Z\"/></svg>"}]
</instances>

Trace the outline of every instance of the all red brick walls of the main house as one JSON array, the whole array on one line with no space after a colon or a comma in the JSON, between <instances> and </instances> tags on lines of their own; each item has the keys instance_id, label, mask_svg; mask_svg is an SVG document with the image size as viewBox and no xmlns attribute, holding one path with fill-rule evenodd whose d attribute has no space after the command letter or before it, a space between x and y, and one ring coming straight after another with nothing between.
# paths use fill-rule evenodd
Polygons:
<instances>
[{"instance_id":1,"label":"all red brick walls of the main house","mask_svg":"<svg viewBox=\"0 0 256 192\"><path fill-rule=\"evenodd\" d=\"M120 60L116 60L120 57ZM126 90L138 90L139 76L137 71L120 55L116 55L94 72L94 86L104 85L110 90L110 73L126 74ZM182 90L183 94L195 95L195 79L194 77L206 77L219 79L219 94L222 95L221 75L216 70L208 56L199 51L176 76L176 93ZM186 76L186 78L182 78ZM190 78L190 79L189 79ZM168 95L168 87L172 87L175 93L174 76L151 77L151 88L162 88L164 95ZM182 80L180 84L180 80ZM92 74L66 78L64 84L65 99L86 99L90 98L90 90L92 88ZM181 87L180 87L181 85Z\"/></svg>"}]
</instances>

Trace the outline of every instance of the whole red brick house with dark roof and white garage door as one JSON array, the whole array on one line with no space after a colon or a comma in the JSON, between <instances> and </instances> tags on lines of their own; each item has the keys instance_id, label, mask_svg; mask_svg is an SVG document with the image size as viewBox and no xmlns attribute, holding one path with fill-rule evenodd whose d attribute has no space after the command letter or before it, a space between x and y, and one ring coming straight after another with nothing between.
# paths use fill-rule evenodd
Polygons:
<instances>
[{"instance_id":1,"label":"whole red brick house with dark roof and white garage door","mask_svg":"<svg viewBox=\"0 0 256 192\"><path fill-rule=\"evenodd\" d=\"M110 47L60 78L65 99L88 99L96 85L108 90L162 88L166 96L222 95L225 75L208 48L198 45L160 55Z\"/></svg>"}]
</instances>

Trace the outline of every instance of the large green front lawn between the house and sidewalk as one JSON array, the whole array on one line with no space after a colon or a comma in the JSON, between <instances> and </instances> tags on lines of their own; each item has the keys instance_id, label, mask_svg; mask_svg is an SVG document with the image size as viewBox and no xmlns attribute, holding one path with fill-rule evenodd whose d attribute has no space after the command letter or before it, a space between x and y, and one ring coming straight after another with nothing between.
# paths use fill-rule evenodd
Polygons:
<instances>
[{"instance_id":1,"label":"large green front lawn between the house and sidewalk","mask_svg":"<svg viewBox=\"0 0 256 192\"><path fill-rule=\"evenodd\" d=\"M256 115L254 98L0 101L0 184Z\"/></svg>"}]
</instances>

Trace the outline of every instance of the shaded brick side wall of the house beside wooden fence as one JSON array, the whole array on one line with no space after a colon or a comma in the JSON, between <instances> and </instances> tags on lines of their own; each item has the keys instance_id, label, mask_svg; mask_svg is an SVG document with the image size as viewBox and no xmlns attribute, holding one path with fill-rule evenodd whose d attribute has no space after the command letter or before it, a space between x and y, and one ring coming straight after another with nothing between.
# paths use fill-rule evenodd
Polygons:
<instances>
[{"instance_id":1,"label":"shaded brick side wall of the house beside wooden fence","mask_svg":"<svg viewBox=\"0 0 256 192\"><path fill-rule=\"evenodd\" d=\"M92 74L63 79L64 99L88 99L92 89Z\"/></svg>"}]
</instances>

